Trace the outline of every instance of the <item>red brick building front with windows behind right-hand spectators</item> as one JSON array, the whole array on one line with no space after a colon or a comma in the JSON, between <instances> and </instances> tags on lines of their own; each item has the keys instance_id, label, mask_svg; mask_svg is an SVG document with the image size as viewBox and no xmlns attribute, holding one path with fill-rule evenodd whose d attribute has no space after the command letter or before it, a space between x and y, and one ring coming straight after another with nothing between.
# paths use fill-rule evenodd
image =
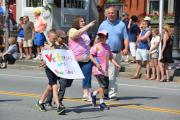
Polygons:
<instances>
[{"instance_id":1,"label":"red brick building front with windows behind right-hand spectators","mask_svg":"<svg viewBox=\"0 0 180 120\"><path fill-rule=\"evenodd\" d=\"M174 23L174 4L174 0L164 0L164 20L166 23ZM114 5L120 10L120 13L126 12L130 16L136 15L139 18L150 16L153 24L159 22L159 0L99 0L100 22L104 19L104 13L102 11L107 5Z\"/></svg>"}]
</instances>

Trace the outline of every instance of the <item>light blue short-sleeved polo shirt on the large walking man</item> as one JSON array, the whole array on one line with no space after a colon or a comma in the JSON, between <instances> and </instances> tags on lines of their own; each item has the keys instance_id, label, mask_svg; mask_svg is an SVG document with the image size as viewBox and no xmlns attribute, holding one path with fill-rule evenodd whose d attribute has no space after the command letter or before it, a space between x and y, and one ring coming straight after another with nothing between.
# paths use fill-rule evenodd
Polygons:
<instances>
[{"instance_id":1,"label":"light blue short-sleeved polo shirt on the large walking man","mask_svg":"<svg viewBox=\"0 0 180 120\"><path fill-rule=\"evenodd\" d=\"M103 21L99 26L99 30L108 31L107 44L110 46L111 51L120 51L123 47L123 40L128 39L128 34L124 22L116 19L114 22L110 22L108 19Z\"/></svg>"}]
</instances>

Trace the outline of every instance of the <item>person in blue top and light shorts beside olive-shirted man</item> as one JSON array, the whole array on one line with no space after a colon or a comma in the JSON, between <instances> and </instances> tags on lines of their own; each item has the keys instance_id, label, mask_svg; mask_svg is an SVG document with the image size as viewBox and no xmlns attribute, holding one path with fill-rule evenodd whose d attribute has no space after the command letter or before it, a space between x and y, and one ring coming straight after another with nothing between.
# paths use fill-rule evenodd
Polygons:
<instances>
[{"instance_id":1,"label":"person in blue top and light shorts beside olive-shirted man","mask_svg":"<svg viewBox=\"0 0 180 120\"><path fill-rule=\"evenodd\" d=\"M18 24L18 37L17 37L20 59L23 58L23 41L24 41L24 21L23 21L23 17L20 17Z\"/></svg>"}]
</instances>

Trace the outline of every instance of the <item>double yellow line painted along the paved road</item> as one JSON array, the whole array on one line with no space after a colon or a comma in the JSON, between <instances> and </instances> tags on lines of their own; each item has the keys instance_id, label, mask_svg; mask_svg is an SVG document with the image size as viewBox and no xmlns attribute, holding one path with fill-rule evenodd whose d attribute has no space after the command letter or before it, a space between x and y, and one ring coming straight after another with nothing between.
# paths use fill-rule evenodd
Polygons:
<instances>
[{"instance_id":1,"label":"double yellow line painted along the paved road","mask_svg":"<svg viewBox=\"0 0 180 120\"><path fill-rule=\"evenodd\" d=\"M40 96L38 94L33 94L33 93L19 93L19 92L11 92L11 91L0 91L0 94L1 95L23 96L23 97L33 97L33 98L38 98ZM87 103L85 101L82 101L79 98L65 98L65 101ZM176 109L157 108L157 107L141 106L141 105L139 105L139 106L138 105L126 105L126 104L120 104L119 102L113 102L113 101L109 101L107 104L111 107L146 110L146 111L163 112L163 113L171 113L171 114L180 115L180 110L176 110Z\"/></svg>"}]
</instances>

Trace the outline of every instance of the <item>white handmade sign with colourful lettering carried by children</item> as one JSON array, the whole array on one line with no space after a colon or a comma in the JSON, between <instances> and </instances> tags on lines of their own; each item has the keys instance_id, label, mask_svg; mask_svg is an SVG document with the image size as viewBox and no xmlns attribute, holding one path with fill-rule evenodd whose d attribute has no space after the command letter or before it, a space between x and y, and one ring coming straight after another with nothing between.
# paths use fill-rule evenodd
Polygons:
<instances>
[{"instance_id":1,"label":"white handmade sign with colourful lettering carried by children","mask_svg":"<svg viewBox=\"0 0 180 120\"><path fill-rule=\"evenodd\" d=\"M71 50L44 50L42 58L47 67L58 77L82 79L84 75Z\"/></svg>"}]
</instances>

